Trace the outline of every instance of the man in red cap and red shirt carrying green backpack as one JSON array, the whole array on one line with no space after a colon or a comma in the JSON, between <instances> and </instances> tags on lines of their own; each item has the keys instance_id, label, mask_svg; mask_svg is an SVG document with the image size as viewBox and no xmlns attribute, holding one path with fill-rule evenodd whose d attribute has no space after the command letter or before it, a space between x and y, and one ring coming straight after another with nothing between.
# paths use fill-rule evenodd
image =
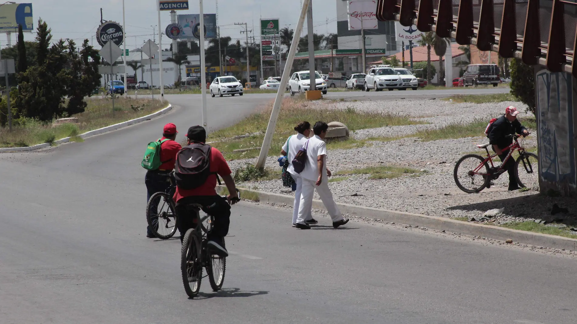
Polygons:
<instances>
[{"instance_id":1,"label":"man in red cap and red shirt carrying green backpack","mask_svg":"<svg viewBox=\"0 0 577 324\"><path fill-rule=\"evenodd\" d=\"M144 177L144 183L146 184L147 190L147 201L150 196L159 191L166 191L170 186L170 182L167 180L168 174L174 169L174 163L176 161L176 156L178 151L182 148L178 142L177 138L177 126L173 123L167 123L164 125L164 130L162 131L162 137L158 139L160 144L160 167L156 170L149 170ZM164 141L166 140L166 141ZM156 210L153 206L152 210ZM152 233L151 228L147 228L147 238L156 238Z\"/></svg>"}]
</instances>

